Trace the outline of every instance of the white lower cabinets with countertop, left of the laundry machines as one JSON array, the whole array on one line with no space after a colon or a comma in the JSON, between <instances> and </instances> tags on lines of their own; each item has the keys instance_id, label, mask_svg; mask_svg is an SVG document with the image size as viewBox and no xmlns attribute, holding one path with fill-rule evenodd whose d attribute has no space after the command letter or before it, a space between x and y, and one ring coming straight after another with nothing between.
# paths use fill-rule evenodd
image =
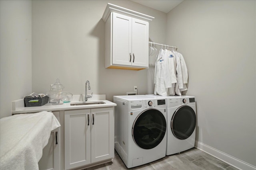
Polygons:
<instances>
[{"instance_id":1,"label":"white lower cabinets with countertop, left of the laundry machines","mask_svg":"<svg viewBox=\"0 0 256 170\"><path fill-rule=\"evenodd\" d=\"M72 103L84 103L80 97L74 95ZM93 101L103 104L92 104ZM105 95L94 95L92 103L88 103L24 107L24 99L12 101L13 115L51 111L60 122L42 150L40 170L84 169L112 161L116 104L106 100Z\"/></svg>"}]
</instances>

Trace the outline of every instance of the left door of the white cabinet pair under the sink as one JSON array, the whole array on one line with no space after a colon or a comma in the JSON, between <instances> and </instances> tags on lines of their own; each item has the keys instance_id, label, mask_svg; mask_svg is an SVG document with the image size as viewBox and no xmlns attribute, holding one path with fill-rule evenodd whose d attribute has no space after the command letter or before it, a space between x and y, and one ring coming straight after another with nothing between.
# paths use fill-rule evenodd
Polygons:
<instances>
[{"instance_id":1,"label":"left door of the white cabinet pair under the sink","mask_svg":"<svg viewBox=\"0 0 256 170\"><path fill-rule=\"evenodd\" d=\"M65 111L64 114L65 169L90 164L90 109Z\"/></svg>"}]
</instances>

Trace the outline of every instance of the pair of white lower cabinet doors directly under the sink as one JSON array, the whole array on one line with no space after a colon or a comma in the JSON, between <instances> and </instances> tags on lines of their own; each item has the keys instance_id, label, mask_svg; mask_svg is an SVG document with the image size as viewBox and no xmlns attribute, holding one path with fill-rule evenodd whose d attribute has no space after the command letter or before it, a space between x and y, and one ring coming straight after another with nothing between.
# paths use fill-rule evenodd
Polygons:
<instances>
[{"instance_id":1,"label":"pair of white lower cabinet doors directly under the sink","mask_svg":"<svg viewBox=\"0 0 256 170\"><path fill-rule=\"evenodd\" d=\"M114 157L113 107L64 112L65 170Z\"/></svg>"}]
</instances>

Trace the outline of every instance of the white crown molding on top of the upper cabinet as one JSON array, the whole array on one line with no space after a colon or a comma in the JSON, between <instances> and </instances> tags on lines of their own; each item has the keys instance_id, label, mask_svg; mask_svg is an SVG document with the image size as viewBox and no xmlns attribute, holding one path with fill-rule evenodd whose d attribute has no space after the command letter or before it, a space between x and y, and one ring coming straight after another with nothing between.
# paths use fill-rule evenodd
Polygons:
<instances>
[{"instance_id":1,"label":"white crown molding on top of the upper cabinet","mask_svg":"<svg viewBox=\"0 0 256 170\"><path fill-rule=\"evenodd\" d=\"M148 15L145 15L145 14L133 11L133 10L129 10L129 9L108 3L108 5L106 6L106 9L104 11L104 14L102 16L102 20L104 22L106 22L106 20L108 19L110 12L124 14L127 16L131 16L133 18L138 18L140 20L144 20L144 21L148 21L148 22L150 22L150 21L152 21L152 19L154 19L154 17L152 17L152 16L148 16Z\"/></svg>"}]
</instances>

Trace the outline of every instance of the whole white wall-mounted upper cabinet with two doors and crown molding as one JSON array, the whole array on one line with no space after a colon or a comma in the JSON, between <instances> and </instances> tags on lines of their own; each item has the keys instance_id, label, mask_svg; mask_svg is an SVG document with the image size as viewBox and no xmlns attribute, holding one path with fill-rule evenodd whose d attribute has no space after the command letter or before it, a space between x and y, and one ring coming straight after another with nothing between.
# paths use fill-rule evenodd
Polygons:
<instances>
[{"instance_id":1,"label":"whole white wall-mounted upper cabinet with two doors and crown molding","mask_svg":"<svg viewBox=\"0 0 256 170\"><path fill-rule=\"evenodd\" d=\"M148 68L149 21L153 18L108 4L102 17L106 22L106 68Z\"/></svg>"}]
</instances>

